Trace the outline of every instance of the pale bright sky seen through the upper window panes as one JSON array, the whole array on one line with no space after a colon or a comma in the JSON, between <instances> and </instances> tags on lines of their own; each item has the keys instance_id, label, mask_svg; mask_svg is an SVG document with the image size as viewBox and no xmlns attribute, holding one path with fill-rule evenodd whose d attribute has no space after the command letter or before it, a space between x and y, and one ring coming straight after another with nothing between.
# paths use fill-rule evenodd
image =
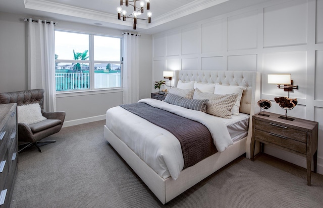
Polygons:
<instances>
[{"instance_id":1,"label":"pale bright sky seen through the upper window panes","mask_svg":"<svg viewBox=\"0 0 323 208\"><path fill-rule=\"evenodd\" d=\"M120 41L120 38L94 35L94 60L120 61ZM55 31L58 59L73 60L73 49L80 53L89 50L89 35Z\"/></svg>"}]
</instances>

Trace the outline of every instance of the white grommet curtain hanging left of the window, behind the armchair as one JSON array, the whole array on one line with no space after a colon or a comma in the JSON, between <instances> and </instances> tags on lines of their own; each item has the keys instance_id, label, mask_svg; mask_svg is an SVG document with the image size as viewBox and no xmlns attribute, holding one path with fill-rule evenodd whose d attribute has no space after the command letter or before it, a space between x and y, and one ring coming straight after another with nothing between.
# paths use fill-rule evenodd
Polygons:
<instances>
[{"instance_id":1,"label":"white grommet curtain hanging left of the window, behind the armchair","mask_svg":"<svg viewBox=\"0 0 323 208\"><path fill-rule=\"evenodd\" d=\"M54 23L28 21L28 89L44 89L44 110L56 111ZM50 24L49 24L50 23Z\"/></svg>"}]
</instances>

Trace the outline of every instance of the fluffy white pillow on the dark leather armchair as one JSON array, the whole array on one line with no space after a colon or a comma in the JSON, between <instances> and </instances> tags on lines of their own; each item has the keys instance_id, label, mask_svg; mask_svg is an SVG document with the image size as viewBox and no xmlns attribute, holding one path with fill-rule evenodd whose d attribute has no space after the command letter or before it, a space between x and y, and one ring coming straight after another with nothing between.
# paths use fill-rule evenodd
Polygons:
<instances>
[{"instance_id":1,"label":"fluffy white pillow on the dark leather armchair","mask_svg":"<svg viewBox=\"0 0 323 208\"><path fill-rule=\"evenodd\" d=\"M18 123L26 123L27 125L47 119L42 116L39 103L18 106L17 115Z\"/></svg>"}]
</instances>

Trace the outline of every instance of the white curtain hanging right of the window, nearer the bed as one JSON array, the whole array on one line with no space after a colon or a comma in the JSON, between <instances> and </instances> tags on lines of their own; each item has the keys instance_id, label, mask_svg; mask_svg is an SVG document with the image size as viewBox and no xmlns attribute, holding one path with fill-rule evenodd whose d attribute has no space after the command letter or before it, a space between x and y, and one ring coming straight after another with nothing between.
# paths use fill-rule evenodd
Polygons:
<instances>
[{"instance_id":1,"label":"white curtain hanging right of the window, nearer the bed","mask_svg":"<svg viewBox=\"0 0 323 208\"><path fill-rule=\"evenodd\" d=\"M139 101L139 35L123 35L123 103Z\"/></svg>"}]
</instances>

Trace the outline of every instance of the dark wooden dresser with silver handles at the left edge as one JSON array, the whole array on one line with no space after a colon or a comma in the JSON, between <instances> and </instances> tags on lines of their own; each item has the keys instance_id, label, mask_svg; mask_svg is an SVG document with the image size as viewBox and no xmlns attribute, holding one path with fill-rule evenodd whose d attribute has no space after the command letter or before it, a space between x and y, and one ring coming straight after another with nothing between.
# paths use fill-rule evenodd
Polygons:
<instances>
[{"instance_id":1,"label":"dark wooden dresser with silver handles at the left edge","mask_svg":"<svg viewBox=\"0 0 323 208\"><path fill-rule=\"evenodd\" d=\"M17 103L0 105L0 208L9 207L18 166Z\"/></svg>"}]
</instances>

